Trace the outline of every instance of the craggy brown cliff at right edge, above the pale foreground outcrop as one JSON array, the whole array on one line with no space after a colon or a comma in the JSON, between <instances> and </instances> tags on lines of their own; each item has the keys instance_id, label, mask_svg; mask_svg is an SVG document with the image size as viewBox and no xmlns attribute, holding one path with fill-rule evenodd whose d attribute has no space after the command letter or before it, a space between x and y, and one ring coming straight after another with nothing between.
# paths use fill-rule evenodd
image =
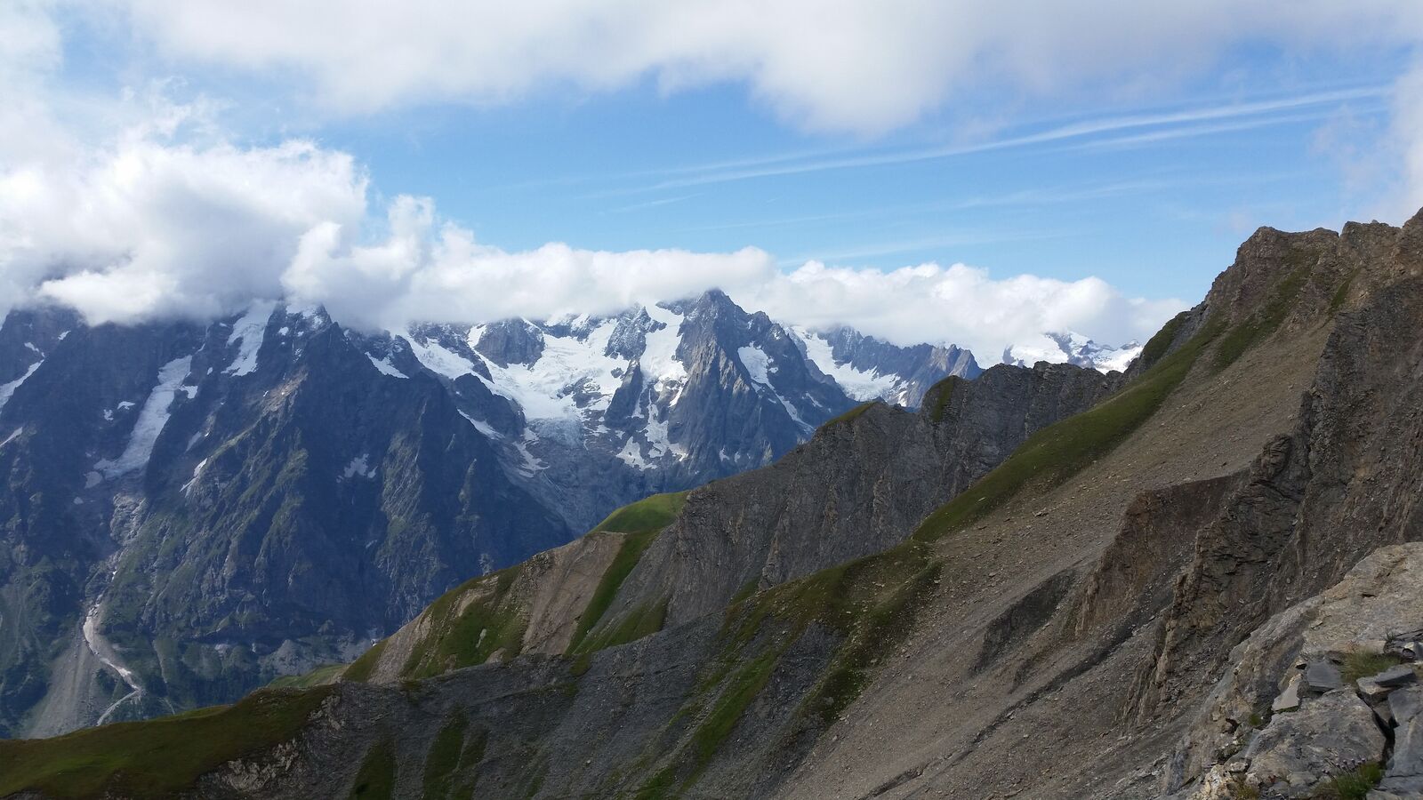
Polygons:
<instances>
[{"instance_id":1,"label":"craggy brown cliff at right edge, above the pale foreground outcrop","mask_svg":"<svg viewBox=\"0 0 1423 800\"><path fill-rule=\"evenodd\" d=\"M1402 246L1419 229L1423 218L1402 232L1349 225L1338 238L1265 231L1242 248L1289 259L1299 275L1285 330L1312 325L1332 306L1343 310L1299 424L1269 443L1231 512L1198 538L1165 622L1147 707L1212 675L1245 632L1342 578L1362 554L1423 537L1416 447L1423 263ZM1255 298L1251 278L1247 270L1221 298ZM1336 289L1326 292L1331 285Z\"/></svg>"}]
</instances>

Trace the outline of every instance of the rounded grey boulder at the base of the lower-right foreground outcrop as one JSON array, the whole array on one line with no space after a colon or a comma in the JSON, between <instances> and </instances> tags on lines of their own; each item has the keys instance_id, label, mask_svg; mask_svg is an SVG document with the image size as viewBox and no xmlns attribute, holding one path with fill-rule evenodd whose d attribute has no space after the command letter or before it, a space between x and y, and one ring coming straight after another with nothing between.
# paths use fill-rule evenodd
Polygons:
<instances>
[{"instance_id":1,"label":"rounded grey boulder at the base of the lower-right foreground outcrop","mask_svg":"<svg viewBox=\"0 0 1423 800\"><path fill-rule=\"evenodd\" d=\"M1249 743L1249 774L1279 783L1285 797L1305 797L1331 774L1383 757L1383 732L1353 692L1335 690L1279 715Z\"/></svg>"}]
</instances>

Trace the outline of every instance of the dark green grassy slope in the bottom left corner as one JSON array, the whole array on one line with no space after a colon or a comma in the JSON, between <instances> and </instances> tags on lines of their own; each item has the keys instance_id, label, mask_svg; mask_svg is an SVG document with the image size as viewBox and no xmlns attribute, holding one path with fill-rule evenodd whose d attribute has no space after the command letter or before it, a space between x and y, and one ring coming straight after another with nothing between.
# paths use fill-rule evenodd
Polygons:
<instances>
[{"instance_id":1,"label":"dark green grassy slope in the bottom left corner","mask_svg":"<svg viewBox=\"0 0 1423 800\"><path fill-rule=\"evenodd\" d=\"M329 695L260 689L232 706L0 740L0 796L169 797L226 762L295 737Z\"/></svg>"}]
</instances>

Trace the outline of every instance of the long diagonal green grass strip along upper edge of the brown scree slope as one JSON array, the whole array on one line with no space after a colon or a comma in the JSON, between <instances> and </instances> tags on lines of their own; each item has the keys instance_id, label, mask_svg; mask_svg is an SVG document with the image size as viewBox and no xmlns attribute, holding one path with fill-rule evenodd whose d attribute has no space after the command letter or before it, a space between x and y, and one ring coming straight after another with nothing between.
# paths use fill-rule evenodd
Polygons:
<instances>
[{"instance_id":1,"label":"long diagonal green grass strip along upper edge of the brown scree slope","mask_svg":"<svg viewBox=\"0 0 1423 800\"><path fill-rule=\"evenodd\" d=\"M1087 411L1030 436L998 468L929 514L912 538L938 540L1007 502L1026 485L1035 484L1042 488L1059 485L1110 453L1147 421L1167 396L1185 380L1191 366L1215 339L1218 330L1220 326L1207 325L1121 391Z\"/></svg>"}]
</instances>

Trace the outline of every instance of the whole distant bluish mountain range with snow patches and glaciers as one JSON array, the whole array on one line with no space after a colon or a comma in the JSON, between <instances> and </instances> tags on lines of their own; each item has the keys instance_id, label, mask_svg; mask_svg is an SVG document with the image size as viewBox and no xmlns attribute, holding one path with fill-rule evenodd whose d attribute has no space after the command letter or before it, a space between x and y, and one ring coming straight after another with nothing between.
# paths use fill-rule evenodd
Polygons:
<instances>
[{"instance_id":1,"label":"whole distant bluish mountain range with snow patches and glaciers","mask_svg":"<svg viewBox=\"0 0 1423 800\"><path fill-rule=\"evenodd\" d=\"M0 326L0 735L229 702L344 662L451 585L656 491L763 465L978 366L726 295L366 335Z\"/></svg>"}]
</instances>

